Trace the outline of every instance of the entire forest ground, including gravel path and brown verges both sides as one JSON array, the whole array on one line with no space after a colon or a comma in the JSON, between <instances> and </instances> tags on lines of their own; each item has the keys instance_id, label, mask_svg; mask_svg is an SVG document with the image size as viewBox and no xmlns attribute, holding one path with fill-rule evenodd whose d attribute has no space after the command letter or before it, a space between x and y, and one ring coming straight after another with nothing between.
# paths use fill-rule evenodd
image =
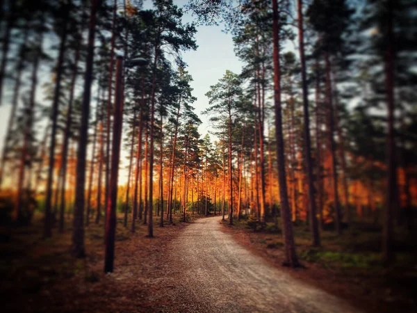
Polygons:
<instances>
[{"instance_id":1,"label":"entire forest ground, including gravel path and brown verges both sides","mask_svg":"<svg viewBox=\"0 0 417 313\"><path fill-rule=\"evenodd\" d=\"M141 221L131 234L117 216L111 274L103 273L103 221L85 228L84 259L70 255L69 221L47 240L40 214L31 226L0 227L1 312L417 312L415 258L400 253L384 269L369 252L372 232L323 232L316 249L306 227L295 227L305 268L291 269L281 266L280 234L220 219L175 216L161 228L155 216L150 239Z\"/></svg>"}]
</instances>

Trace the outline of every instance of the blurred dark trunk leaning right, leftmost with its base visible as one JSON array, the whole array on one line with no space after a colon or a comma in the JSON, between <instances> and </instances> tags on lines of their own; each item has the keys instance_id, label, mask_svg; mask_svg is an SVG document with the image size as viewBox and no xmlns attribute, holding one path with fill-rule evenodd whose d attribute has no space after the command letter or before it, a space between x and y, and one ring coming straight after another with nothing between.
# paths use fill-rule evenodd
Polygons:
<instances>
[{"instance_id":1,"label":"blurred dark trunk leaning right, leftmost with its base visible","mask_svg":"<svg viewBox=\"0 0 417 313\"><path fill-rule=\"evenodd\" d=\"M22 157L20 159L19 174L17 180L17 193L15 207L13 208L12 219L16 223L22 214L22 200L23 200L23 184L24 184L24 172L26 168L26 162L28 161L28 151L31 143L32 125L33 125L33 110L35 109L35 97L36 88L38 87L38 68L40 63L40 56L42 54L42 41L43 34L40 33L38 38L38 49L36 51L35 60L33 61L33 70L31 74L31 93L29 95L28 108L26 111L24 140L22 146Z\"/></svg>"}]
</instances>

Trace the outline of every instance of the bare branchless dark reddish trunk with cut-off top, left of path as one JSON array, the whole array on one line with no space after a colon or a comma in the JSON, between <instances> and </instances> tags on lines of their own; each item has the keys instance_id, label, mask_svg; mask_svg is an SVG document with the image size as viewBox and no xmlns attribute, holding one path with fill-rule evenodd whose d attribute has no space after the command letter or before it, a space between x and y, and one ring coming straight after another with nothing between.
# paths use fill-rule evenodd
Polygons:
<instances>
[{"instance_id":1,"label":"bare branchless dark reddish trunk with cut-off top, left of path","mask_svg":"<svg viewBox=\"0 0 417 313\"><path fill-rule=\"evenodd\" d=\"M123 122L123 58L116 61L115 109L113 113L113 145L111 153L111 176L109 198L106 202L106 255L104 257L104 273L113 272L115 256L117 179L119 177L120 142L122 141Z\"/></svg>"}]
</instances>

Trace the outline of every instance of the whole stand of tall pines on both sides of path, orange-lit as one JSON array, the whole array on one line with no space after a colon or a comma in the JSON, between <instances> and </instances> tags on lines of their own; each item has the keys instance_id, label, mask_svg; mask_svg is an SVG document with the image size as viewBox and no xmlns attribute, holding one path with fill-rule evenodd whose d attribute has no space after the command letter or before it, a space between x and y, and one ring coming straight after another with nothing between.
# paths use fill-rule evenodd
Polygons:
<instances>
[{"instance_id":1,"label":"whole stand of tall pines on both sides of path, orange-lit","mask_svg":"<svg viewBox=\"0 0 417 313\"><path fill-rule=\"evenodd\" d=\"M85 227L104 216L105 271L117 207L125 227L141 220L149 236L154 214L163 226L175 210L184 221L273 220L291 266L293 223L308 221L318 246L320 230L372 218L384 225L387 262L395 226L412 227L413 1L190 1L200 22L224 22L245 64L206 94L214 142L198 132L181 59L197 49L195 25L172 1L0 7L1 105L10 104L0 183L14 225L41 209L50 237L72 220L72 252L83 257Z\"/></svg>"}]
</instances>

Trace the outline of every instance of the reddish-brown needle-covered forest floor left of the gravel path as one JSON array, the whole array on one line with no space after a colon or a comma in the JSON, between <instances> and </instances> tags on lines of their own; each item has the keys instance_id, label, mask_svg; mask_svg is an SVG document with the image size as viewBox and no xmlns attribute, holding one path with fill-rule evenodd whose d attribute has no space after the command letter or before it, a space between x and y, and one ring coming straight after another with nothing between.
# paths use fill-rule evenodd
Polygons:
<instances>
[{"instance_id":1,"label":"reddish-brown needle-covered forest floor left of the gravel path","mask_svg":"<svg viewBox=\"0 0 417 313\"><path fill-rule=\"evenodd\" d=\"M170 286L160 278L170 271L167 247L186 226L174 217L174 225L158 226L147 238L147 226L136 223L136 233L123 227L117 216L115 271L104 274L104 224L85 227L84 259L70 255L72 225L64 234L54 229L42 239L42 216L33 225L0 228L1 312L158 312L173 307L164 298ZM159 295L159 296L155 296Z\"/></svg>"}]
</instances>

